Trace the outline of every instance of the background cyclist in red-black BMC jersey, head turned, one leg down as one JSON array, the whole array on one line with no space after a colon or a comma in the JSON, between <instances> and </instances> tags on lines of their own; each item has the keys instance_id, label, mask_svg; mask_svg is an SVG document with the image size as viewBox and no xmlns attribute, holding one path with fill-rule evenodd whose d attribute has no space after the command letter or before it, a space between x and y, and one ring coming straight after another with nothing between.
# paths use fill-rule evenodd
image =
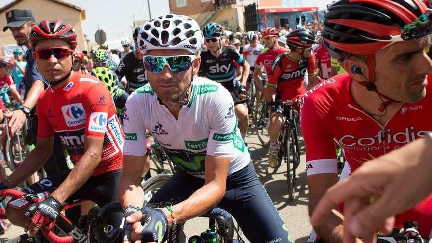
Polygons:
<instances>
[{"instance_id":1,"label":"background cyclist in red-black BMC jersey, head turned, one leg down","mask_svg":"<svg viewBox=\"0 0 432 243\"><path fill-rule=\"evenodd\" d=\"M273 94L276 93L277 101L299 100L306 93L304 76L309 75L309 81L314 84L318 77L315 68L315 57L311 54L312 45L315 43L315 36L306 29L298 29L287 35L287 45L290 52L280 54L271 67L269 84L264 92L264 98L271 102ZM296 102L297 103L297 102ZM299 111L297 104L294 108ZM272 108L270 117L270 147L269 166L274 168L277 165L277 137L284 123L284 106L277 104Z\"/></svg>"}]
</instances>

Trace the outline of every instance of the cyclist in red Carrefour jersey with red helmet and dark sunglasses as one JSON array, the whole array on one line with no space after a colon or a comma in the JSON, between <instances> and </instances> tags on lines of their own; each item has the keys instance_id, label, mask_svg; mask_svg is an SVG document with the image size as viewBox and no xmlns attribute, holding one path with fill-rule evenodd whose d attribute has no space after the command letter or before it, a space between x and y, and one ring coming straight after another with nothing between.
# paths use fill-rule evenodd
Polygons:
<instances>
[{"instance_id":1,"label":"cyclist in red Carrefour jersey with red helmet and dark sunglasses","mask_svg":"<svg viewBox=\"0 0 432 243\"><path fill-rule=\"evenodd\" d=\"M50 192L44 201L23 210L8 207L13 224L34 235L55 220L66 200L115 201L123 159L123 133L108 89L97 78L72 71L77 34L61 20L43 20L30 34L36 65L50 87L37 102L37 145L0 189L13 188L36 172L52 154L58 133L75 167L31 185L29 193ZM32 209L30 209L32 208Z\"/></svg>"}]
</instances>

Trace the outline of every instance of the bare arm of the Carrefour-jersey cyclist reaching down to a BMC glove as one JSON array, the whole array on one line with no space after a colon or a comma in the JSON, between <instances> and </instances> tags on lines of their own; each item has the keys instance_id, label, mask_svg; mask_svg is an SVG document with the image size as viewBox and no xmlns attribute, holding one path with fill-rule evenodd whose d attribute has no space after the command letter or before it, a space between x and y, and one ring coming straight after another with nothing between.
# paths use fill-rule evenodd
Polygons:
<instances>
[{"instance_id":1,"label":"bare arm of the Carrefour-jersey cyclist reaching down to a BMC glove","mask_svg":"<svg viewBox=\"0 0 432 243\"><path fill-rule=\"evenodd\" d=\"M63 203L91 176L96 166L101 162L104 137L86 136L84 140L85 152L77 162L64 182L51 194Z\"/></svg>"}]
</instances>

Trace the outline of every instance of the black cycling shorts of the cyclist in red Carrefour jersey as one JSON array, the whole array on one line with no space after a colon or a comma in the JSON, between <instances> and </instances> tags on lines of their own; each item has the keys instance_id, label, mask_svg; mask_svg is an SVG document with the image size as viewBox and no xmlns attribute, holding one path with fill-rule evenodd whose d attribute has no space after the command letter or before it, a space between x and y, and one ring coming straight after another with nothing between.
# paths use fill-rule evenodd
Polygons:
<instances>
[{"instance_id":1,"label":"black cycling shorts of the cyclist in red Carrefour jersey","mask_svg":"<svg viewBox=\"0 0 432 243\"><path fill-rule=\"evenodd\" d=\"M25 189L28 193L51 193L66 179L71 170L63 171L44 178ZM71 203L78 200L90 200L99 207L107 203L118 201L117 188L120 183L121 169L109 171L102 175L90 176L88 180L66 201Z\"/></svg>"}]
</instances>

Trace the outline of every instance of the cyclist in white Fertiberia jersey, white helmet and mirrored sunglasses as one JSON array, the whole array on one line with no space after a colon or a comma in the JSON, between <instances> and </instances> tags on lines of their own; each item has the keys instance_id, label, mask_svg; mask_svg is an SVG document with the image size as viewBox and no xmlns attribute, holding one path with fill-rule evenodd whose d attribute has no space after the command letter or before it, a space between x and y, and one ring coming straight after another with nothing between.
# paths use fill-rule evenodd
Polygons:
<instances>
[{"instance_id":1,"label":"cyclist in white Fertiberia jersey, white helmet and mirrored sunglasses","mask_svg":"<svg viewBox=\"0 0 432 243\"><path fill-rule=\"evenodd\" d=\"M149 84L126 102L118 189L129 240L161 242L173 224L218 205L234 216L252 242L291 243L237 129L231 94L221 84L196 76L204 43L198 23L175 14L150 19L138 43ZM179 198L180 203L170 208L141 209L139 167L145 157L146 129L180 167L150 201ZM144 214L151 216L146 227L140 223Z\"/></svg>"}]
</instances>

